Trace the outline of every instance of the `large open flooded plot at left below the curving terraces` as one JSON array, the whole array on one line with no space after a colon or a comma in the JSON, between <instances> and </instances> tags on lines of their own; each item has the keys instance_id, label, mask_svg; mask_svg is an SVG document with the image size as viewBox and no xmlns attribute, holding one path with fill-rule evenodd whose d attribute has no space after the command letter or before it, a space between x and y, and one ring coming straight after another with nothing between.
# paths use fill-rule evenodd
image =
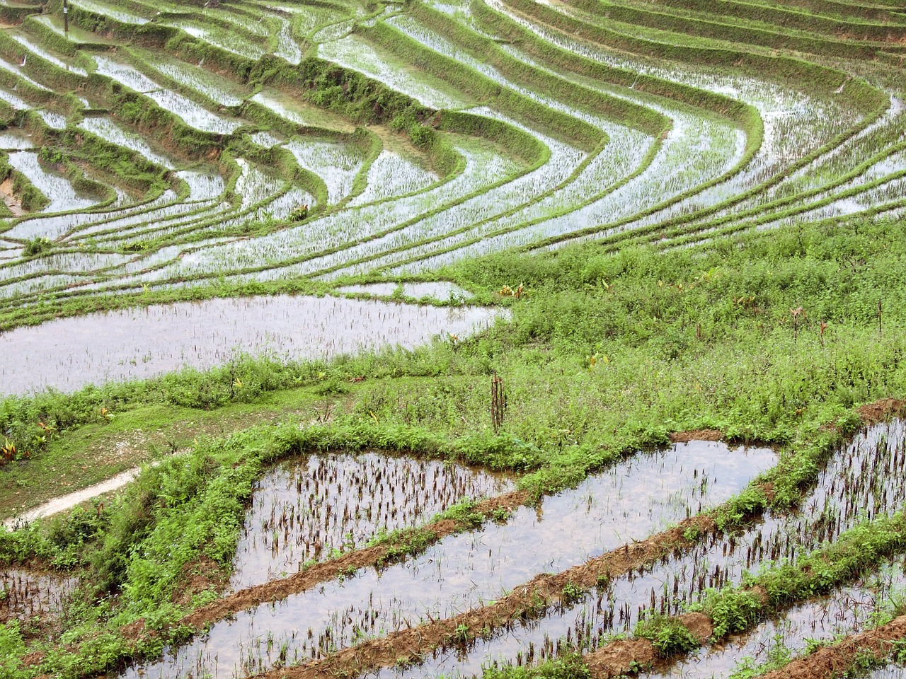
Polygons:
<instances>
[{"instance_id":1,"label":"large open flooded plot at left below the curving terraces","mask_svg":"<svg viewBox=\"0 0 906 679\"><path fill-rule=\"evenodd\" d=\"M0 334L0 396L210 368L238 352L314 359L412 348L438 334L461 338L505 313L292 295L92 313Z\"/></svg>"}]
</instances>

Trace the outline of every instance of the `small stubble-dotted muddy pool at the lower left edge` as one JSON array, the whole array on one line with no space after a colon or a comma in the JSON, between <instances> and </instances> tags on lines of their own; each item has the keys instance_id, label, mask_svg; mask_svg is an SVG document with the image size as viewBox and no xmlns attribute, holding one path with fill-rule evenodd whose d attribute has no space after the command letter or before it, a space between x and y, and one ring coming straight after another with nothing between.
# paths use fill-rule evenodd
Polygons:
<instances>
[{"instance_id":1,"label":"small stubble-dotted muddy pool at the lower left edge","mask_svg":"<svg viewBox=\"0 0 906 679\"><path fill-rule=\"evenodd\" d=\"M63 603L79 584L76 578L25 569L0 569L0 623L59 617Z\"/></svg>"}]
</instances>

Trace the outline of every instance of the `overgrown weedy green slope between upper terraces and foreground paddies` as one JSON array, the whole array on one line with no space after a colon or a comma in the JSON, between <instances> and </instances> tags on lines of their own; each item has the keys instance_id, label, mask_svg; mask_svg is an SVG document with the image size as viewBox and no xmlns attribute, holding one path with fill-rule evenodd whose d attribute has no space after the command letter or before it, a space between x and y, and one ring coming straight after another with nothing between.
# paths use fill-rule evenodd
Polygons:
<instances>
[{"instance_id":1,"label":"overgrown weedy green slope between upper terraces and foreground paddies","mask_svg":"<svg viewBox=\"0 0 906 679\"><path fill-rule=\"evenodd\" d=\"M450 271L489 297L503 284L523 282L529 290L527 299L510 298L511 323L476 339L331 364L248 359L72 397L6 399L5 430L27 436L39 417L59 430L22 467L44 465L44 473L52 461L77 465L92 435L108 429L125 434L203 420L229 431L228 423L256 408L284 420L292 407L313 415L318 404L334 402L328 424L300 429L290 417L286 426L202 437L193 453L166 458L100 516L75 512L5 535L7 558L34 555L89 569L86 581L120 593L111 607L86 590L68 623L72 639L89 629L96 634L99 626L109 630L101 635L106 650L92 651L90 662L84 654L92 645L80 646L78 661L53 650L42 671L69 676L79 674L76 667L115 666L122 654L153 655L156 646L123 646L117 636L119 626L137 617L165 636L183 634L174 626L181 609L163 603L180 569L200 554L228 568L249 484L276 456L405 450L525 470L523 487L551 493L625 452L665 441L671 430L716 427L733 438L794 449L816 440L821 426L851 430L853 406L904 391L903 243L900 228L889 223L838 226L833 233L815 225L741 238L704 255L596 254L593 246L548 256L497 255ZM799 306L805 320L794 336L790 309ZM819 320L829 324L824 344ZM492 370L507 393L501 435L494 435L487 414ZM364 382L346 382L361 375ZM241 391L232 388L236 378ZM284 391L294 384L299 387ZM110 409L112 422L101 421L101 407ZM302 419L311 422L312 415ZM826 440L830 445L834 437ZM815 450L777 475L798 473L808 483L821 464L820 446ZM763 498L743 493L730 512L742 517L759 505ZM173 540L184 546L173 552ZM660 631L652 634L660 638Z\"/></svg>"}]
</instances>

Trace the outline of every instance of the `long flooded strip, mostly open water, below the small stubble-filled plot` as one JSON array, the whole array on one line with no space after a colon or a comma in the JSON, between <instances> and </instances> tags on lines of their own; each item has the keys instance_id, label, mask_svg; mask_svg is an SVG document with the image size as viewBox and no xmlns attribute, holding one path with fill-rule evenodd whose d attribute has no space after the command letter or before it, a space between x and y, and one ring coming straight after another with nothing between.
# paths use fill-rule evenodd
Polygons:
<instances>
[{"instance_id":1,"label":"long flooded strip, mostly open water, below the small stubble-filled plot","mask_svg":"<svg viewBox=\"0 0 906 679\"><path fill-rule=\"evenodd\" d=\"M421 556L334 581L214 625L165 660L132 669L148 679L191 672L250 674L304 662L365 638L449 617L660 531L737 493L775 464L766 449L714 443L637 454L579 487L520 508L505 524L449 536Z\"/></svg>"}]
</instances>

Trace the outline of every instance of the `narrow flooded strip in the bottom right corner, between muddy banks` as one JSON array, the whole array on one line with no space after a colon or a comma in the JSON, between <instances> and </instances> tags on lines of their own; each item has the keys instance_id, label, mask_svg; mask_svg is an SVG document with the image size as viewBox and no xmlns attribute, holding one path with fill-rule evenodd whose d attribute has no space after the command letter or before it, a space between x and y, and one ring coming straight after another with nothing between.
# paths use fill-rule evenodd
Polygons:
<instances>
[{"instance_id":1,"label":"narrow flooded strip in the bottom right corner, between muddy banks","mask_svg":"<svg viewBox=\"0 0 906 679\"><path fill-rule=\"evenodd\" d=\"M766 620L750 634L732 636L710 652L674 665L669 672L640 676L710 679L729 676L742 667L763 665L778 655L802 655L810 639L832 641L872 626L872 619L887 612L891 595L904 587L906 560L901 555L882 565L879 574L794 607L784 617Z\"/></svg>"}]
</instances>

